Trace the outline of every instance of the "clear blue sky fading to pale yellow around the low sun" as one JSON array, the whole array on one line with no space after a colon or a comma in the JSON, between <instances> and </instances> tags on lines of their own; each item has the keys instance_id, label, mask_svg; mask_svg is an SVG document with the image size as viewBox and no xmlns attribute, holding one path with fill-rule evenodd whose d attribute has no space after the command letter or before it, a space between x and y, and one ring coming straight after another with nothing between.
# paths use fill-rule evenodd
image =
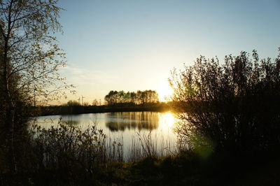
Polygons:
<instances>
[{"instance_id":1,"label":"clear blue sky fading to pale yellow around the low sun","mask_svg":"<svg viewBox=\"0 0 280 186\"><path fill-rule=\"evenodd\" d=\"M280 1L60 0L60 73L76 85L68 100L104 101L110 90L168 94L172 69L257 50L276 57ZM62 102L66 102L64 100Z\"/></svg>"}]
</instances>

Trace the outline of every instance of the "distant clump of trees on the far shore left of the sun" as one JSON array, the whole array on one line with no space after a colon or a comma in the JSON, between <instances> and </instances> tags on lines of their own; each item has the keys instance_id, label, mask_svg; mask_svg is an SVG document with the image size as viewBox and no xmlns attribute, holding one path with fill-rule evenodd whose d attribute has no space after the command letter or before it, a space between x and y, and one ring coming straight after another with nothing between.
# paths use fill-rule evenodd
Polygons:
<instances>
[{"instance_id":1,"label":"distant clump of trees on the far shore left of the sun","mask_svg":"<svg viewBox=\"0 0 280 186\"><path fill-rule=\"evenodd\" d=\"M155 90L138 90L137 92L124 92L111 90L104 98L108 105L113 105L116 103L134 103L134 104L144 104L144 103L158 103L158 92Z\"/></svg>"}]
</instances>

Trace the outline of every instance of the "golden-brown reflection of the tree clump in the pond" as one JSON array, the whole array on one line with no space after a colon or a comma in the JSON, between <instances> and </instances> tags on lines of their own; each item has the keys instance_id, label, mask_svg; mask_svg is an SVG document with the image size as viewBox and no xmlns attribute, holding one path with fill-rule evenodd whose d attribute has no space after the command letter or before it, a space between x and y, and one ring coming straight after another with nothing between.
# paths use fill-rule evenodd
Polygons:
<instances>
[{"instance_id":1,"label":"golden-brown reflection of the tree clump in the pond","mask_svg":"<svg viewBox=\"0 0 280 186\"><path fill-rule=\"evenodd\" d=\"M106 117L106 127L110 131L125 131L125 129L158 129L159 114L152 112L111 113Z\"/></svg>"}]
</instances>

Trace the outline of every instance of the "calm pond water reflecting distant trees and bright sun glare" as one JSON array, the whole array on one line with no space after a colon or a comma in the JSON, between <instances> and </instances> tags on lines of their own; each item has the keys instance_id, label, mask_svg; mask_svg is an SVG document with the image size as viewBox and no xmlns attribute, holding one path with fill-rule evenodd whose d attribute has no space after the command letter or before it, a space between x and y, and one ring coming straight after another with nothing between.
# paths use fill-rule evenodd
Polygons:
<instances>
[{"instance_id":1,"label":"calm pond water reflecting distant trees and bright sun glare","mask_svg":"<svg viewBox=\"0 0 280 186\"><path fill-rule=\"evenodd\" d=\"M124 155L134 145L141 145L151 135L157 152L169 154L176 148L176 135L173 127L175 118L172 113L157 112L123 112L123 113L90 113L80 115L49 115L37 117L36 122L45 129L57 125L59 118L66 124L86 129L89 125L96 124L97 129L103 129L104 134L111 141L123 144ZM166 151L166 152L164 152Z\"/></svg>"}]
</instances>

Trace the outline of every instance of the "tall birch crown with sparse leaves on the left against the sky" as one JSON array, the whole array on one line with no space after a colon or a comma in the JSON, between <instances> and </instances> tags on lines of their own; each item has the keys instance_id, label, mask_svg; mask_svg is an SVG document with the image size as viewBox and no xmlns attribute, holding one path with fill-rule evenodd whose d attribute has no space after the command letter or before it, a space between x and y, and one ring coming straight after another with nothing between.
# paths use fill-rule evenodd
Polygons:
<instances>
[{"instance_id":1,"label":"tall birch crown with sparse leaves on the left against the sky","mask_svg":"<svg viewBox=\"0 0 280 186\"><path fill-rule=\"evenodd\" d=\"M65 66L64 52L54 36L62 26L57 18L62 8L50 0L0 1L0 69L3 114L17 103L46 103L59 99L71 85L57 73Z\"/></svg>"}]
</instances>

